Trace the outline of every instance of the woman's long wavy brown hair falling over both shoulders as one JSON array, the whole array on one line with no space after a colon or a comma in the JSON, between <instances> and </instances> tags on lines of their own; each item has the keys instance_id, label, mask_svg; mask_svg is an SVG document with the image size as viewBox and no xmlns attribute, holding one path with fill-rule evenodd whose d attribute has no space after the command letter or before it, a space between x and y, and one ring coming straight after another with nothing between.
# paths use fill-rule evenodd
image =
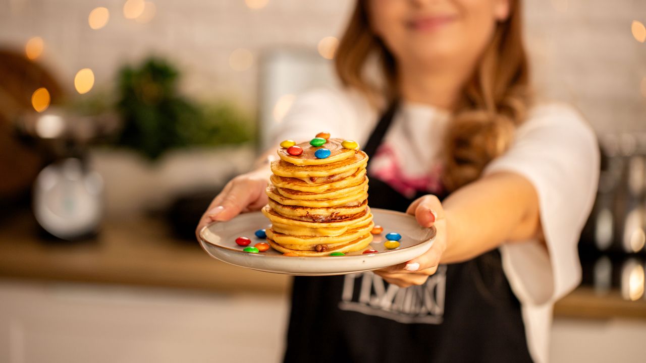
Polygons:
<instances>
[{"instance_id":1,"label":"woman's long wavy brown hair falling over both shoulders","mask_svg":"<svg viewBox=\"0 0 646 363\"><path fill-rule=\"evenodd\" d=\"M379 59L383 83L371 83L366 65ZM370 28L365 0L358 0L337 54L337 74L346 87L364 92L372 103L398 96L395 58ZM443 182L449 191L479 178L486 164L508 148L530 102L529 69L523 45L521 5L510 1L510 15L494 35L453 110L444 140Z\"/></svg>"}]
</instances>

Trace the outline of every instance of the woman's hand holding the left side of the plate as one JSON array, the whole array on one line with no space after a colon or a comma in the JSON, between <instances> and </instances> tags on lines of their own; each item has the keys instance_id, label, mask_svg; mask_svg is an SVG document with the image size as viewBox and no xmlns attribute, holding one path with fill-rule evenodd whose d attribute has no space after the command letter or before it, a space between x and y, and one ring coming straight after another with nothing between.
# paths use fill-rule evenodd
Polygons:
<instances>
[{"instance_id":1,"label":"woman's hand holding the left side of the plate","mask_svg":"<svg viewBox=\"0 0 646 363\"><path fill-rule=\"evenodd\" d=\"M200 239L200 230L214 221L230 220L240 213L258 211L267 204L265 189L269 182L269 168L247 172L233 178L225 185L202 214L200 223L195 229L195 236Z\"/></svg>"}]
</instances>

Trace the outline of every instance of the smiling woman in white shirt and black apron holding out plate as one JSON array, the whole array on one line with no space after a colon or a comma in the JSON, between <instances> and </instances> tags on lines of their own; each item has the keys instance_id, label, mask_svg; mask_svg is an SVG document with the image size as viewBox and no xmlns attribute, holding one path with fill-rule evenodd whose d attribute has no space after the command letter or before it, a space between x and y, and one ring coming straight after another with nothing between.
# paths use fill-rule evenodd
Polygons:
<instances>
[{"instance_id":1,"label":"smiling woman in white shirt and black apron holding out plate","mask_svg":"<svg viewBox=\"0 0 646 363\"><path fill-rule=\"evenodd\" d=\"M519 1L359 1L336 66L344 87L301 96L276 143L359 141L370 206L437 238L374 273L296 277L286 361L547 361L598 152L572 109L531 102ZM198 229L260 209L269 173L234 178Z\"/></svg>"}]
</instances>

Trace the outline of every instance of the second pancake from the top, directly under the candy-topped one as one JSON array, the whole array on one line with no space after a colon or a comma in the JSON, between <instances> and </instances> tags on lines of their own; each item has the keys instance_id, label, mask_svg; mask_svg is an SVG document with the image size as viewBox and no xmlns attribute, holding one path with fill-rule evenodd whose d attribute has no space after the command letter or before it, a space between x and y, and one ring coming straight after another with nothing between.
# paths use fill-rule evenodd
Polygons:
<instances>
[{"instance_id":1,"label":"second pancake from the top, directly under the candy-topped one","mask_svg":"<svg viewBox=\"0 0 646 363\"><path fill-rule=\"evenodd\" d=\"M335 161L323 165L293 165L285 160L271 161L271 172L278 176L289 176L292 178L311 178L313 176L329 176L357 170L368 163L368 155L359 150L351 158Z\"/></svg>"}]
</instances>

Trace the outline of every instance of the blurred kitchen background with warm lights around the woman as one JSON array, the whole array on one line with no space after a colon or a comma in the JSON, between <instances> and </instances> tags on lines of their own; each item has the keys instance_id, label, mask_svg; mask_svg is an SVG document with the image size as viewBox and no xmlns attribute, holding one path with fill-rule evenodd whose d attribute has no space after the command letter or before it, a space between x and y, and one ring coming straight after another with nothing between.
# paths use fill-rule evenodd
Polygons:
<instances>
[{"instance_id":1,"label":"blurred kitchen background with warm lights around the woman","mask_svg":"<svg viewBox=\"0 0 646 363\"><path fill-rule=\"evenodd\" d=\"M541 98L603 153L553 362L643 362L646 2L526 0ZM351 1L0 0L0 362L278 362L287 276L194 226L295 95L335 85Z\"/></svg>"}]
</instances>

